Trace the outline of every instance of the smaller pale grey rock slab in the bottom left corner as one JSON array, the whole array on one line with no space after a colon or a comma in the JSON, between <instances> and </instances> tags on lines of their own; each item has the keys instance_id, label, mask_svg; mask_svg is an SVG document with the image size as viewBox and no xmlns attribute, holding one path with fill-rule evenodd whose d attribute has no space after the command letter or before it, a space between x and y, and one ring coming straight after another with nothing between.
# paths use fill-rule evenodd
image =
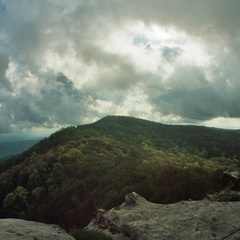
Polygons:
<instances>
[{"instance_id":1,"label":"smaller pale grey rock slab in the bottom left corner","mask_svg":"<svg viewBox=\"0 0 240 240\"><path fill-rule=\"evenodd\" d=\"M74 240L72 236L57 225L13 218L0 219L0 239Z\"/></svg>"}]
</instances>

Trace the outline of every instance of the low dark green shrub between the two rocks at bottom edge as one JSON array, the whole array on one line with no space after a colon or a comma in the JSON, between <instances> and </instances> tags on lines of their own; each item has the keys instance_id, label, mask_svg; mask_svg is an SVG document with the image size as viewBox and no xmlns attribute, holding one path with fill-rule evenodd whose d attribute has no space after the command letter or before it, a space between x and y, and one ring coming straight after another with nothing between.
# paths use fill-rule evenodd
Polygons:
<instances>
[{"instance_id":1,"label":"low dark green shrub between the two rocks at bottom edge","mask_svg":"<svg viewBox=\"0 0 240 240\"><path fill-rule=\"evenodd\" d=\"M76 240L112 240L110 236L104 233L90 230L76 230L72 233Z\"/></svg>"}]
</instances>

